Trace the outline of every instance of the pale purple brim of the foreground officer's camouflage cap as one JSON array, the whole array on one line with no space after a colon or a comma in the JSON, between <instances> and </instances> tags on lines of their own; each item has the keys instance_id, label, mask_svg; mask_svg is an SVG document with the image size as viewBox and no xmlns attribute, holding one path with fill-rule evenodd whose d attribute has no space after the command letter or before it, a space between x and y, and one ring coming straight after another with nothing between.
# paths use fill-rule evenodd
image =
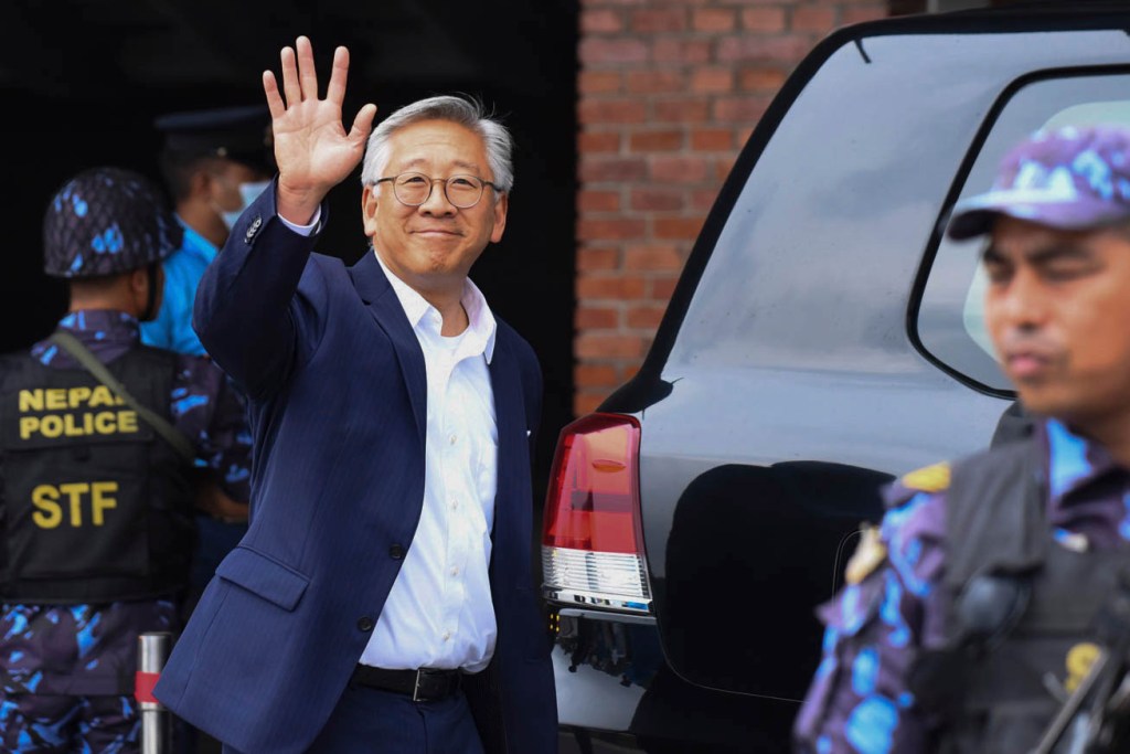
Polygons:
<instances>
[{"instance_id":1,"label":"pale purple brim of the foreground officer's camouflage cap","mask_svg":"<svg viewBox=\"0 0 1130 754\"><path fill-rule=\"evenodd\" d=\"M1086 231L1130 219L1130 207L1058 191L989 191L954 207L946 235L955 241L990 233L1001 215L1061 231Z\"/></svg>"}]
</instances>

